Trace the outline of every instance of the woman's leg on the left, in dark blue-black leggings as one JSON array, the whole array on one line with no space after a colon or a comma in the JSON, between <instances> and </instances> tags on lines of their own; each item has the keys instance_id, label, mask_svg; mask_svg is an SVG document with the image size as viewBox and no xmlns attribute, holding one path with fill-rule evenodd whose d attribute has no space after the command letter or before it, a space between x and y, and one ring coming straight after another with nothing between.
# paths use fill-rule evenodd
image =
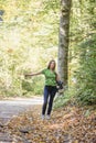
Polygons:
<instances>
[{"instance_id":1,"label":"woman's leg on the left, in dark blue-black leggings","mask_svg":"<svg viewBox=\"0 0 96 143\"><path fill-rule=\"evenodd\" d=\"M49 99L49 87L45 86L44 87L44 102L43 102L43 107L42 107L42 116L45 114L46 106L47 106L47 99Z\"/></svg>"}]
</instances>

